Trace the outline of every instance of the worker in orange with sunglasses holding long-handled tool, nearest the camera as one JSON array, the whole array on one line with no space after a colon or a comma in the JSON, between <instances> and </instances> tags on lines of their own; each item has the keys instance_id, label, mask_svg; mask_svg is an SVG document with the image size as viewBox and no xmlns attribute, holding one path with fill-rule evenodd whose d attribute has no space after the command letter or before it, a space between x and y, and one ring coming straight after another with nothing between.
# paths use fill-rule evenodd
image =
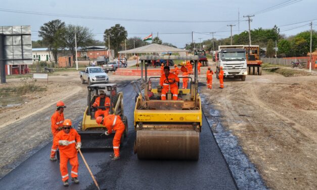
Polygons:
<instances>
[{"instance_id":1,"label":"worker in orange with sunglasses holding long-handled tool, nearest the camera","mask_svg":"<svg viewBox=\"0 0 317 190\"><path fill-rule=\"evenodd\" d=\"M68 170L67 163L69 161L72 166L71 177L74 183L79 183L78 180L78 157L77 150L81 147L80 135L76 129L72 128L72 122L70 119L65 119L63 122L63 130L59 131L54 137L54 144L58 146L60 150L60 170L64 186L68 186Z\"/></svg>"}]
</instances>

